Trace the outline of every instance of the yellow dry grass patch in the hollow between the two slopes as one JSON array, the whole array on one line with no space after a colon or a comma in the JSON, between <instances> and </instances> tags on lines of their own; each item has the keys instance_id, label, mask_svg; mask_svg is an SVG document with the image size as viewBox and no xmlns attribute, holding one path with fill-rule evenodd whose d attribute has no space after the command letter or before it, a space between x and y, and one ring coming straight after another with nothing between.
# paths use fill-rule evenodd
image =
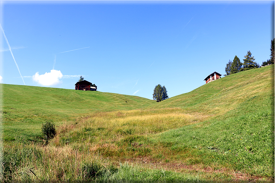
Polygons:
<instances>
[{"instance_id":1,"label":"yellow dry grass patch in the hollow between the two slopes","mask_svg":"<svg viewBox=\"0 0 275 183\"><path fill-rule=\"evenodd\" d=\"M82 120L82 123L109 131L131 129L135 134L147 134L199 123L207 117L202 113L186 114L179 108L166 108L98 113Z\"/></svg>"}]
</instances>

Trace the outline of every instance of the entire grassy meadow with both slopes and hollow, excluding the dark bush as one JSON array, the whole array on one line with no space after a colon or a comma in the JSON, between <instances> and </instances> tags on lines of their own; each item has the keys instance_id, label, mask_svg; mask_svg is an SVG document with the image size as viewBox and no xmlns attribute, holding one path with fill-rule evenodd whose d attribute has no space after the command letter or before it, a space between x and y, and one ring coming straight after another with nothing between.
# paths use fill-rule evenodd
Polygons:
<instances>
[{"instance_id":1,"label":"entire grassy meadow with both slopes and hollow, excluding the dark bush","mask_svg":"<svg viewBox=\"0 0 275 183\"><path fill-rule=\"evenodd\" d=\"M273 182L274 64L156 101L0 85L2 182ZM55 123L48 144L42 123Z\"/></svg>"}]
</instances>

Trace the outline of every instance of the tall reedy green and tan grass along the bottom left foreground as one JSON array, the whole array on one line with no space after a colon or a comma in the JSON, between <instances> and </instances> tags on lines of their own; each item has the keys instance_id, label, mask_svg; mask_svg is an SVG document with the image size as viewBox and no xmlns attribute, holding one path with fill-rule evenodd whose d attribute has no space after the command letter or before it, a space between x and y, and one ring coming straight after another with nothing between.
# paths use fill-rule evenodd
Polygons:
<instances>
[{"instance_id":1,"label":"tall reedy green and tan grass along the bottom left foreground","mask_svg":"<svg viewBox=\"0 0 275 183\"><path fill-rule=\"evenodd\" d=\"M180 174L163 169L119 163L96 154L83 154L69 146L26 145L17 139L2 154L2 182L208 182L197 174Z\"/></svg>"}]
</instances>

